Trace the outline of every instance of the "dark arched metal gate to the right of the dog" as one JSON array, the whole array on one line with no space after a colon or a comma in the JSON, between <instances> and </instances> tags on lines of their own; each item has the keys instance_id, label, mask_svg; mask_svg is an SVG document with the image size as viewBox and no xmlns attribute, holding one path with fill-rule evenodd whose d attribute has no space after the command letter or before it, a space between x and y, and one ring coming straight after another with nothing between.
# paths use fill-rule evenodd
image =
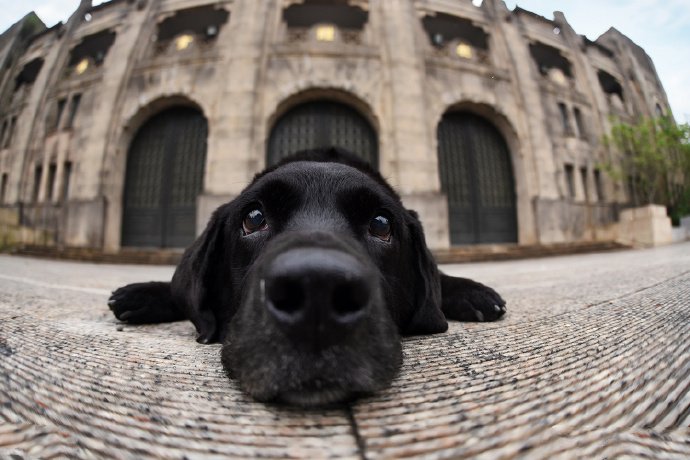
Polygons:
<instances>
[{"instance_id":1,"label":"dark arched metal gate to the right of the dog","mask_svg":"<svg viewBox=\"0 0 690 460\"><path fill-rule=\"evenodd\" d=\"M498 129L471 113L447 113L438 159L451 244L517 242L513 168Z\"/></svg>"}]
</instances>

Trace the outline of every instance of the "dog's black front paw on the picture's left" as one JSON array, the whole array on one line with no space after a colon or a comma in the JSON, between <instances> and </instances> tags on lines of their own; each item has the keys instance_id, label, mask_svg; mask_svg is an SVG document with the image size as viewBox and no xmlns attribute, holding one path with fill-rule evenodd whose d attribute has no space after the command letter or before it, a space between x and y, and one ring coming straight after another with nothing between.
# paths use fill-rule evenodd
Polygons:
<instances>
[{"instance_id":1,"label":"dog's black front paw on the picture's left","mask_svg":"<svg viewBox=\"0 0 690 460\"><path fill-rule=\"evenodd\" d=\"M162 323L183 319L172 304L170 283L128 284L116 289L108 307L120 321L131 324Z\"/></svg>"}]
</instances>

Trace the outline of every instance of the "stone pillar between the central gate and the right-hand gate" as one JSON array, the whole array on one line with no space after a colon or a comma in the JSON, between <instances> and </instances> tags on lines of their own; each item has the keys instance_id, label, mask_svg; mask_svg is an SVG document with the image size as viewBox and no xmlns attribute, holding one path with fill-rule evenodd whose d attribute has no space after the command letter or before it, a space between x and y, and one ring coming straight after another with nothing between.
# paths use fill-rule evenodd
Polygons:
<instances>
[{"instance_id":1,"label":"stone pillar between the central gate and the right-hand gate","mask_svg":"<svg viewBox=\"0 0 690 460\"><path fill-rule=\"evenodd\" d=\"M427 245L447 248L448 203L440 192L435 143L428 130L424 56L417 43L418 30L410 27L419 18L413 2L407 0L381 2L381 8L381 57L389 101L385 115L392 135L388 151L381 152L381 169L390 171L389 180L405 206L419 214Z\"/></svg>"}]
</instances>

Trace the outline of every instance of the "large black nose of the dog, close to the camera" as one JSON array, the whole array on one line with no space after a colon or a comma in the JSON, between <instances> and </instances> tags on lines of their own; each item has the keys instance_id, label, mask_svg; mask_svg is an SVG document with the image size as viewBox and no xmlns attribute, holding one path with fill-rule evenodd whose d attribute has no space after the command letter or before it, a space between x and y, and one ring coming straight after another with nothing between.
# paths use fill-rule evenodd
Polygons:
<instances>
[{"instance_id":1,"label":"large black nose of the dog, close to the camera","mask_svg":"<svg viewBox=\"0 0 690 460\"><path fill-rule=\"evenodd\" d=\"M345 252L296 248L269 265L262 291L266 308L293 338L327 346L364 317L372 278Z\"/></svg>"}]
</instances>

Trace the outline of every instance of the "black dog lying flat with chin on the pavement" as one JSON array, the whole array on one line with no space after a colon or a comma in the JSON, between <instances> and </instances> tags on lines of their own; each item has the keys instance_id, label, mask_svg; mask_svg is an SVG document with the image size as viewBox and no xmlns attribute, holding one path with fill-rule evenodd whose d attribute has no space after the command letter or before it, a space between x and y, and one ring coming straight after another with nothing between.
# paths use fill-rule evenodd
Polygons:
<instances>
[{"instance_id":1,"label":"black dog lying flat with chin on the pavement","mask_svg":"<svg viewBox=\"0 0 690 460\"><path fill-rule=\"evenodd\" d=\"M172 282L130 284L108 305L130 323L191 320L223 343L223 366L254 398L326 404L386 387L400 334L446 318L493 321L491 288L439 273L414 211L347 152L302 152L218 208Z\"/></svg>"}]
</instances>

